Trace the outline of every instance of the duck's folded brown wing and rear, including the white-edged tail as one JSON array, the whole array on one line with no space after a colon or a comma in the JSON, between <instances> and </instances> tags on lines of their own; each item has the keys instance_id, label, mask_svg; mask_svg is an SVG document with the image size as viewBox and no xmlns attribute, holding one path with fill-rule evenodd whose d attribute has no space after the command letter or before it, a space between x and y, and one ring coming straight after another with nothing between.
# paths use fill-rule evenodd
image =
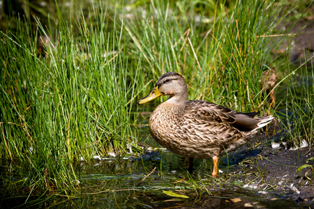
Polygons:
<instances>
[{"instance_id":1,"label":"duck's folded brown wing and rear, including the white-edged tail","mask_svg":"<svg viewBox=\"0 0 314 209\"><path fill-rule=\"evenodd\" d=\"M273 116L255 117L257 114L237 112L203 100L190 100L177 132L192 141L191 144L197 144L198 149L210 149L214 156L219 156L246 144L258 128L273 119Z\"/></svg>"}]
</instances>

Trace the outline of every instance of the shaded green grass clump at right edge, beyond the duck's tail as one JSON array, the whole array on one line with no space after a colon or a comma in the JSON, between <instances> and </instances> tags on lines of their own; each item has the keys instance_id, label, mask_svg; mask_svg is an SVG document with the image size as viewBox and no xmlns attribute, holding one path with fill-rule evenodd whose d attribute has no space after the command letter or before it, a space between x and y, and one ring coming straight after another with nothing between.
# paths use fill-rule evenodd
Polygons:
<instances>
[{"instance_id":1,"label":"shaded green grass clump at right edge, beyond the duck's tail","mask_svg":"<svg viewBox=\"0 0 314 209\"><path fill-rule=\"evenodd\" d=\"M285 133L283 141L294 147L306 142L307 146L311 147L314 144L313 70L309 70L305 65L303 68L293 70L292 75L295 77L287 77L283 83L287 91L283 99L285 109L281 111Z\"/></svg>"}]
</instances>

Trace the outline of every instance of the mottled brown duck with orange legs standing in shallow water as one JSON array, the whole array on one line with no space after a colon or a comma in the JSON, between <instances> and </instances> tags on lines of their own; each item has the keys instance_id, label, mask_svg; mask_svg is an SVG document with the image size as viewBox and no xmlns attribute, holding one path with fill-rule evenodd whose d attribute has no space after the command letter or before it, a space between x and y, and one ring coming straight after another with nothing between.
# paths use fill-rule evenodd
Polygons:
<instances>
[{"instance_id":1,"label":"mottled brown duck with orange legs standing in shallow water","mask_svg":"<svg viewBox=\"0 0 314 209\"><path fill-rule=\"evenodd\" d=\"M211 175L217 178L218 159L248 142L274 116L259 112L237 112L205 100L188 100L188 86L177 72L159 77L154 89L138 104L160 96L169 98L158 105L149 117L149 132L161 146L188 157L188 172L193 173L193 159L214 161Z\"/></svg>"}]
</instances>

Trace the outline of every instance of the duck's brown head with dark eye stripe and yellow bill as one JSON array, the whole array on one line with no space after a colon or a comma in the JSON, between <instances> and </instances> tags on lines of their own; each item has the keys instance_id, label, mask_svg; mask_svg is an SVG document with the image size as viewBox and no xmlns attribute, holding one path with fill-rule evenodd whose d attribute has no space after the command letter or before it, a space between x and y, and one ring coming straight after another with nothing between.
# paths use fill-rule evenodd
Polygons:
<instances>
[{"instance_id":1,"label":"duck's brown head with dark eye stripe and yellow bill","mask_svg":"<svg viewBox=\"0 0 314 209\"><path fill-rule=\"evenodd\" d=\"M160 76L156 82L155 88L138 102L138 104L144 104L150 102L161 95L170 95L167 102L172 104L180 104L188 100L188 86L184 77L177 72L167 72Z\"/></svg>"}]
</instances>

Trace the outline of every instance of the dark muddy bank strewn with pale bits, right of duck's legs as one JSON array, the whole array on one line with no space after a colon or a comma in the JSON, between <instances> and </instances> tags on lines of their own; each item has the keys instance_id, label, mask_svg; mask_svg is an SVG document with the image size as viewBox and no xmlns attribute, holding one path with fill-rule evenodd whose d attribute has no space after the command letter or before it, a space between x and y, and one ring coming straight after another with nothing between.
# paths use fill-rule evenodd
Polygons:
<instances>
[{"instance_id":1,"label":"dark muddy bank strewn with pale bits, right of duck's legs","mask_svg":"<svg viewBox=\"0 0 314 209\"><path fill-rule=\"evenodd\" d=\"M276 149L264 146L241 151L241 154L251 155L252 152L255 155L247 157L233 169L234 173L242 174L237 182L244 183L245 189L252 189L258 194L276 194L314 206L314 171L311 167L314 165L313 160L308 160L314 157L313 148L290 150L284 146ZM304 164L310 166L297 171Z\"/></svg>"}]
</instances>

